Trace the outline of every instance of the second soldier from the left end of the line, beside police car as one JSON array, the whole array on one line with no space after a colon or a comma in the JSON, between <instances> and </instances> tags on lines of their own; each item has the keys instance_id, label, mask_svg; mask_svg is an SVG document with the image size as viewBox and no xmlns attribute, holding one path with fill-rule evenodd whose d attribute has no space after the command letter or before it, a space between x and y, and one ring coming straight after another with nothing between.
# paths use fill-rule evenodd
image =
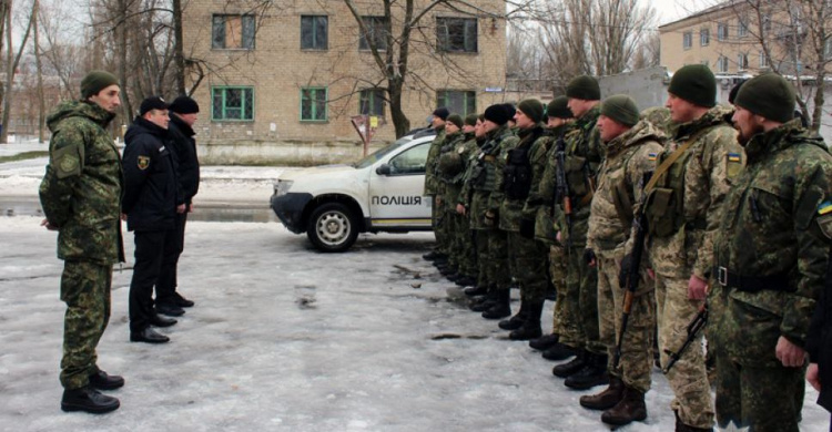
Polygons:
<instances>
[{"instance_id":1,"label":"second soldier from the left end of the line, beside police car","mask_svg":"<svg viewBox=\"0 0 832 432\"><path fill-rule=\"evenodd\" d=\"M459 114L450 114L445 121L445 140L439 147L439 154L437 155L436 163L436 182L438 184L438 193L436 195L436 205L442 209L443 224L439 227L442 234L437 234L447 240L447 255L448 264L442 270L449 280L457 280L463 276L461 269L459 268L460 259L463 254L456 245L456 196L458 195L458 187L453 184L454 177L459 174L461 169L461 161L459 157L454 157L454 150L457 145L465 142L465 135L463 135L463 117ZM456 155L458 156L458 154ZM448 197L450 194L450 198Z\"/></svg>"}]
</instances>

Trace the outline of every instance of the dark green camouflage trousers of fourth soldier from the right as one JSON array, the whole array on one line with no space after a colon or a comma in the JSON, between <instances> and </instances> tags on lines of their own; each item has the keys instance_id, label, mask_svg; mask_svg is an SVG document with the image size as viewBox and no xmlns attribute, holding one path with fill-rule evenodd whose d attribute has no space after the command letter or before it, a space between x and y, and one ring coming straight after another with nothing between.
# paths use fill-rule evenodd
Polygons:
<instances>
[{"instance_id":1,"label":"dark green camouflage trousers of fourth soldier from the right","mask_svg":"<svg viewBox=\"0 0 832 432\"><path fill-rule=\"evenodd\" d=\"M558 292L559 295L560 292ZM606 354L607 347L598 335L598 272L584 260L584 245L567 248L566 292L558 296L575 322L564 322L560 342L593 354Z\"/></svg>"}]
</instances>

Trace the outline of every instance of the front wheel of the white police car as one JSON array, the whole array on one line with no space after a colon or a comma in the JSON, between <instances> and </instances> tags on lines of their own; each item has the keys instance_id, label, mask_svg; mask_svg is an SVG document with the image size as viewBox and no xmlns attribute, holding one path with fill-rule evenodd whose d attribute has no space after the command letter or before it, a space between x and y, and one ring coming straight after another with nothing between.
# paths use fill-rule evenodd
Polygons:
<instances>
[{"instance_id":1,"label":"front wheel of the white police car","mask_svg":"<svg viewBox=\"0 0 832 432\"><path fill-rule=\"evenodd\" d=\"M344 251L358 237L358 225L349 207L341 203L326 203L312 212L306 236L322 251Z\"/></svg>"}]
</instances>

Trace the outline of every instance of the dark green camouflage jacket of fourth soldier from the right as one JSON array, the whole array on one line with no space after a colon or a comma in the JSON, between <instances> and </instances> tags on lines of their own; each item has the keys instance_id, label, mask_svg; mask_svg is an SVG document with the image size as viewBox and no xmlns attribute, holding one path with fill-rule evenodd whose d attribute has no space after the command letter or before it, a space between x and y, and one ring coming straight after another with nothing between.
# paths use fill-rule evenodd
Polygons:
<instances>
[{"instance_id":1,"label":"dark green camouflage jacket of fourth soldier from the right","mask_svg":"<svg viewBox=\"0 0 832 432\"><path fill-rule=\"evenodd\" d=\"M596 127L600 107L596 105L575 121L566 135L566 178L572 202L571 229L567 228L562 202L559 214L561 241L571 247L584 248L589 229L589 209L598 168L603 162L603 145Z\"/></svg>"}]
</instances>

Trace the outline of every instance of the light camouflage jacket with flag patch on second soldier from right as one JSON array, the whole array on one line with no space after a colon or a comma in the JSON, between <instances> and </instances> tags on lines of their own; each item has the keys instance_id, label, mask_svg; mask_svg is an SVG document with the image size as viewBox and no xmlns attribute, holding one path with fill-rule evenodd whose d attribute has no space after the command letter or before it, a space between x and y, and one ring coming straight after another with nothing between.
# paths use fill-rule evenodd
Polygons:
<instances>
[{"instance_id":1,"label":"light camouflage jacket with flag patch on second soldier from right","mask_svg":"<svg viewBox=\"0 0 832 432\"><path fill-rule=\"evenodd\" d=\"M683 192L673 199L680 199L682 210L677 217L686 223L669 236L648 238L650 264L662 276L689 278L696 275L707 279L713 266L713 236L722 216L722 204L731 188L731 178L741 172L745 157L737 142L737 131L726 122L724 110L716 106L698 120L678 125L676 135L664 145L663 155L657 160L658 166L663 157L696 138L687 154L677 161L683 164L679 174ZM663 177L669 178L671 171ZM657 188L662 184L657 183ZM653 202L652 197L648 199L646 212L651 210Z\"/></svg>"}]
</instances>

